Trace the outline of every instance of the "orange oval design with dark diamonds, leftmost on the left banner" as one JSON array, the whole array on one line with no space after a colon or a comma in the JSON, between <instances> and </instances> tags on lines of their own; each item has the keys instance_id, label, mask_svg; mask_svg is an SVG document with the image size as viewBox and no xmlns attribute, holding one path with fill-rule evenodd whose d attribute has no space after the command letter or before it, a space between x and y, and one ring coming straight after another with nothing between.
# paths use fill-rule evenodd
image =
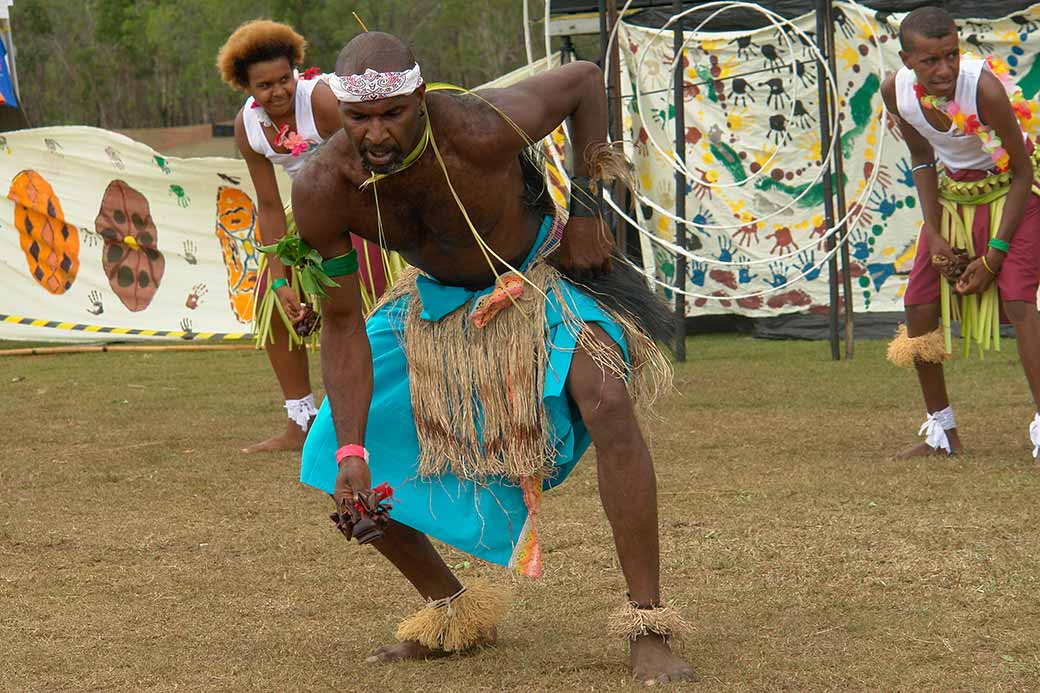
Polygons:
<instances>
[{"instance_id":1,"label":"orange oval design with dark diamonds, leftmost on the left banner","mask_svg":"<svg viewBox=\"0 0 1040 693\"><path fill-rule=\"evenodd\" d=\"M54 296L72 288L79 272L79 230L66 224L61 203L43 176L23 171L11 181L15 228L29 275Z\"/></svg>"}]
</instances>

